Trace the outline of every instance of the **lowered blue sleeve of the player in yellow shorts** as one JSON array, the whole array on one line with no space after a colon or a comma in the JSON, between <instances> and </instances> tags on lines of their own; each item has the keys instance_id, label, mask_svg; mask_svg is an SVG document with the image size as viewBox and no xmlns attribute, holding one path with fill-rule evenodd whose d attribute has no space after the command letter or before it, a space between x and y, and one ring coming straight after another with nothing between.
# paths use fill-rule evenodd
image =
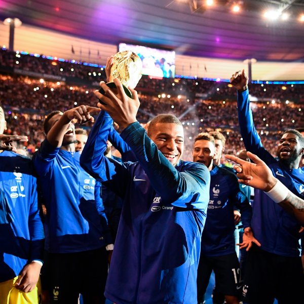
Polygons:
<instances>
[{"instance_id":1,"label":"lowered blue sleeve of the player in yellow shorts","mask_svg":"<svg viewBox=\"0 0 304 304\"><path fill-rule=\"evenodd\" d=\"M43 260L44 229L37 203L36 179L32 178L31 202L29 209L28 228L30 235L30 261Z\"/></svg>"}]
</instances>

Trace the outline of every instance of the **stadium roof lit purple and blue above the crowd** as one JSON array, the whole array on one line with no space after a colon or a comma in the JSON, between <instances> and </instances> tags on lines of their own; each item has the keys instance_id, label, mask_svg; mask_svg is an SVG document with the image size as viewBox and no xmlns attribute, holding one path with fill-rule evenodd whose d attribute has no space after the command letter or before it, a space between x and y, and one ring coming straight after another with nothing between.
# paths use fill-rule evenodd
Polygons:
<instances>
[{"instance_id":1,"label":"stadium roof lit purple and blue above the crowd","mask_svg":"<svg viewBox=\"0 0 304 304\"><path fill-rule=\"evenodd\" d=\"M214 1L216 2L216 1ZM1 0L0 17L117 45L132 42L200 57L304 61L304 1ZM281 8L276 20L263 12ZM289 18L281 20L283 13Z\"/></svg>"}]
</instances>

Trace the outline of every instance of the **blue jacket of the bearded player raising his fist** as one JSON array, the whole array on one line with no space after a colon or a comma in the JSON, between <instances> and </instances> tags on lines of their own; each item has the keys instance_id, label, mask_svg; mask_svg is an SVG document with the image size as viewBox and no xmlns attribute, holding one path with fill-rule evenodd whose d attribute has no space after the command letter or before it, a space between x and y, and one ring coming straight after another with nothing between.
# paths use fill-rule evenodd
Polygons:
<instances>
[{"instance_id":1,"label":"blue jacket of the bearded player raising his fist","mask_svg":"<svg viewBox=\"0 0 304 304\"><path fill-rule=\"evenodd\" d=\"M273 175L292 193L304 199L304 172L300 168L292 170L285 168L263 147L253 125L248 90L238 92L238 113L246 149L263 160L270 167ZM251 228L263 250L282 256L299 255L300 225L293 216L259 190L254 192L252 210Z\"/></svg>"}]
</instances>

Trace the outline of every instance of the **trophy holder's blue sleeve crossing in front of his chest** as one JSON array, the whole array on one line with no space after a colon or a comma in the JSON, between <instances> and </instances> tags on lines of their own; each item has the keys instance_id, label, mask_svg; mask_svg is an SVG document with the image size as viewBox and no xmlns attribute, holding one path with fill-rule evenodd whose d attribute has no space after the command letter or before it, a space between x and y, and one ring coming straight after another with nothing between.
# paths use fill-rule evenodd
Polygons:
<instances>
[{"instance_id":1,"label":"trophy holder's blue sleeve crossing in front of his chest","mask_svg":"<svg viewBox=\"0 0 304 304\"><path fill-rule=\"evenodd\" d=\"M209 202L210 173L206 166L189 163L179 172L163 156L138 122L121 134L149 177L157 194L165 202L183 208L205 209Z\"/></svg>"}]
</instances>

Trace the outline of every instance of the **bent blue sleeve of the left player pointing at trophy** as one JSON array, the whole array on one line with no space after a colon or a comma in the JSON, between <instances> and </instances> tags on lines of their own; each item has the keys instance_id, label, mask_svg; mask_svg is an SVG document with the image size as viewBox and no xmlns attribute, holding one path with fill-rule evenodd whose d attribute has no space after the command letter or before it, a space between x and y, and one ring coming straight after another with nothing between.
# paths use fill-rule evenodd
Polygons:
<instances>
[{"instance_id":1,"label":"bent blue sleeve of the left player pointing at trophy","mask_svg":"<svg viewBox=\"0 0 304 304\"><path fill-rule=\"evenodd\" d=\"M52 146L47 139L42 142L40 149L32 158L32 162L38 176L45 176L52 168L54 159L59 150L60 147Z\"/></svg>"}]
</instances>

